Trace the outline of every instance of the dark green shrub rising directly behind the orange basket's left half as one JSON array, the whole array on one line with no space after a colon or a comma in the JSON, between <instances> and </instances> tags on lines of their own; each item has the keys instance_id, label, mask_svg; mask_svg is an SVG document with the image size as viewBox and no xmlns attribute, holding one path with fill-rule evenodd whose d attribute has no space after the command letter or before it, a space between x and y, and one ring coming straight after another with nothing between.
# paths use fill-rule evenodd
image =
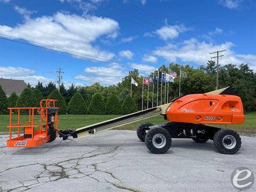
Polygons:
<instances>
[{"instance_id":1,"label":"dark green shrub rising directly behind the orange basket's left half","mask_svg":"<svg viewBox=\"0 0 256 192\"><path fill-rule=\"evenodd\" d=\"M16 107L36 107L37 101L31 88L26 88L22 91L17 100ZM21 114L28 114L28 110L21 110Z\"/></svg>"}]
</instances>

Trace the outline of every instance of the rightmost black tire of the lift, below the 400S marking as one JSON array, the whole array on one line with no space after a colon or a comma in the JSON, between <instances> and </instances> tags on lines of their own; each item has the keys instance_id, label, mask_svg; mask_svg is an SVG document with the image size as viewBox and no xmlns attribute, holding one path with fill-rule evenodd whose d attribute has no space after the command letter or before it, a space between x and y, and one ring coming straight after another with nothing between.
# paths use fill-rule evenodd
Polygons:
<instances>
[{"instance_id":1,"label":"rightmost black tire of the lift, below the 400S marking","mask_svg":"<svg viewBox=\"0 0 256 192\"><path fill-rule=\"evenodd\" d=\"M233 130L219 130L214 134L213 143L222 154L234 154L240 149L242 141L239 134Z\"/></svg>"}]
</instances>

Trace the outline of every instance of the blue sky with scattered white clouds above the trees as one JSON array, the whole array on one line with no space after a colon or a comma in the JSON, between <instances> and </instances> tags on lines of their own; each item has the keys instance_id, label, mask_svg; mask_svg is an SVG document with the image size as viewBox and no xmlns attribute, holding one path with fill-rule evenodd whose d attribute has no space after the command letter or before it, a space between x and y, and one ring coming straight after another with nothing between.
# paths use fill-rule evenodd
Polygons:
<instances>
[{"instance_id":1,"label":"blue sky with scattered white clouds above the trees","mask_svg":"<svg viewBox=\"0 0 256 192\"><path fill-rule=\"evenodd\" d=\"M217 50L256 71L255 19L254 0L0 0L0 77L108 86Z\"/></svg>"}]
</instances>

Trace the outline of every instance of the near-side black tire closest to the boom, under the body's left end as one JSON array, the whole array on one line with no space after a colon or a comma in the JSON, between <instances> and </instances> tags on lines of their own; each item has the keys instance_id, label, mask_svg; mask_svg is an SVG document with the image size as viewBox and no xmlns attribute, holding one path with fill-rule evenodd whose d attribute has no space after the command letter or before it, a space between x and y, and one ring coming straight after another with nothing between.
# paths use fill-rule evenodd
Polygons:
<instances>
[{"instance_id":1,"label":"near-side black tire closest to the boom, under the body's left end","mask_svg":"<svg viewBox=\"0 0 256 192\"><path fill-rule=\"evenodd\" d=\"M158 137L157 137L158 136ZM163 139L161 139L163 138ZM165 142L164 142L165 140ZM156 127L154 129L151 129L146 134L145 142L147 145L147 148L154 154L163 154L168 149L170 149L172 145L172 138L168 131L166 131L164 128ZM155 144L154 144L155 143ZM162 145L161 145L162 143ZM156 147L156 145L159 145Z\"/></svg>"}]
</instances>

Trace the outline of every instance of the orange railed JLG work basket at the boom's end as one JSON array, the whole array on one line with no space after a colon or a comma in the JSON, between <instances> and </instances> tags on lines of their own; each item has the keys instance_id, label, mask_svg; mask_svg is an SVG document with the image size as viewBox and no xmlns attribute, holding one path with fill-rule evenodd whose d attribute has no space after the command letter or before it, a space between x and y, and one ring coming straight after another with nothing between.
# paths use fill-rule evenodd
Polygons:
<instances>
[{"instance_id":1,"label":"orange railed JLG work basket at the boom's end","mask_svg":"<svg viewBox=\"0 0 256 192\"><path fill-rule=\"evenodd\" d=\"M10 110L9 132L10 138L6 141L7 147L37 147L50 140L49 128L58 129L57 100L45 99L40 107L17 107ZM54 110L54 113L51 111ZM22 115L21 114L27 114ZM26 120L25 120L26 119ZM12 133L17 136L12 138Z\"/></svg>"}]
</instances>

